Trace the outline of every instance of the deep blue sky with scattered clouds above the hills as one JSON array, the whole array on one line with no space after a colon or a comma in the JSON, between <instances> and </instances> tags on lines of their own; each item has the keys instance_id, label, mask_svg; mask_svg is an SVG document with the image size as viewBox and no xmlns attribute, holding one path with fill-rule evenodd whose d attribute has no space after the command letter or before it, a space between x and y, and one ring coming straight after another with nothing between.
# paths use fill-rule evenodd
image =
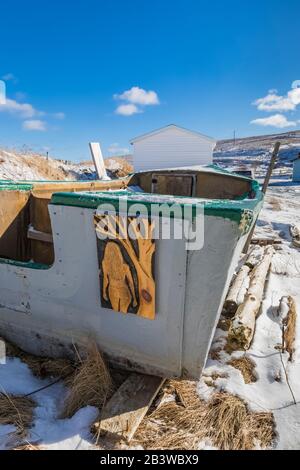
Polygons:
<instances>
[{"instance_id":1,"label":"deep blue sky with scattered clouds above the hills","mask_svg":"<svg viewBox=\"0 0 300 470\"><path fill-rule=\"evenodd\" d=\"M78 161L169 123L300 128L299 17L296 0L2 2L0 146Z\"/></svg>"}]
</instances>

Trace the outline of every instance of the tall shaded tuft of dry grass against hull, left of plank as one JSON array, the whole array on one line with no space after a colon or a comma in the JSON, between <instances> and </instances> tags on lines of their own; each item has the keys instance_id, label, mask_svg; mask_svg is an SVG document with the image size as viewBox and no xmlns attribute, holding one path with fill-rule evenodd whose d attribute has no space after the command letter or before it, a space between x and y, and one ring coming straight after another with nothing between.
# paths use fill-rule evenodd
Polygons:
<instances>
[{"instance_id":1,"label":"tall shaded tuft of dry grass against hull, left of plank","mask_svg":"<svg viewBox=\"0 0 300 470\"><path fill-rule=\"evenodd\" d=\"M62 418L70 418L83 406L96 406L101 410L105 404L113 385L96 344L91 345L85 358L79 357L79 366L70 378L69 387Z\"/></svg>"}]
</instances>

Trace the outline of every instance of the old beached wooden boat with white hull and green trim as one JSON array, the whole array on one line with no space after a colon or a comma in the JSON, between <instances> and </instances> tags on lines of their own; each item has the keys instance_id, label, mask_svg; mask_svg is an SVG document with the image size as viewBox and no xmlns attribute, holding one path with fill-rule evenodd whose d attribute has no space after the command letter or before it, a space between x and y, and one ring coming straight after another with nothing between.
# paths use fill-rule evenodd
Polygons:
<instances>
[{"instance_id":1,"label":"old beached wooden boat with white hull and green trim","mask_svg":"<svg viewBox=\"0 0 300 470\"><path fill-rule=\"evenodd\" d=\"M203 246L154 237L168 215L134 216L137 204L172 206L176 220L189 209ZM261 204L255 180L213 166L114 181L1 181L0 336L50 356L94 340L112 364L198 378ZM114 237L103 237L107 220ZM121 237L124 221L135 232L142 221L147 237Z\"/></svg>"}]
</instances>

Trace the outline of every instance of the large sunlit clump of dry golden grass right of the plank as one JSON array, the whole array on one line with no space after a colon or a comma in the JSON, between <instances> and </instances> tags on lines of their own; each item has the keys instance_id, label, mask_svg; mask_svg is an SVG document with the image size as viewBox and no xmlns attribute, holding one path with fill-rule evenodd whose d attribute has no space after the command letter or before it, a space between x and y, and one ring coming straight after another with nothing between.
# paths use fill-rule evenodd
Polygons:
<instances>
[{"instance_id":1,"label":"large sunlit clump of dry golden grass right of the plank","mask_svg":"<svg viewBox=\"0 0 300 470\"><path fill-rule=\"evenodd\" d=\"M197 449L202 439L224 450L253 449L271 445L274 423L271 413L252 413L239 397L214 393L201 400L196 384L171 381L185 406L176 401L162 404L139 427L134 442L145 449Z\"/></svg>"}]
</instances>

